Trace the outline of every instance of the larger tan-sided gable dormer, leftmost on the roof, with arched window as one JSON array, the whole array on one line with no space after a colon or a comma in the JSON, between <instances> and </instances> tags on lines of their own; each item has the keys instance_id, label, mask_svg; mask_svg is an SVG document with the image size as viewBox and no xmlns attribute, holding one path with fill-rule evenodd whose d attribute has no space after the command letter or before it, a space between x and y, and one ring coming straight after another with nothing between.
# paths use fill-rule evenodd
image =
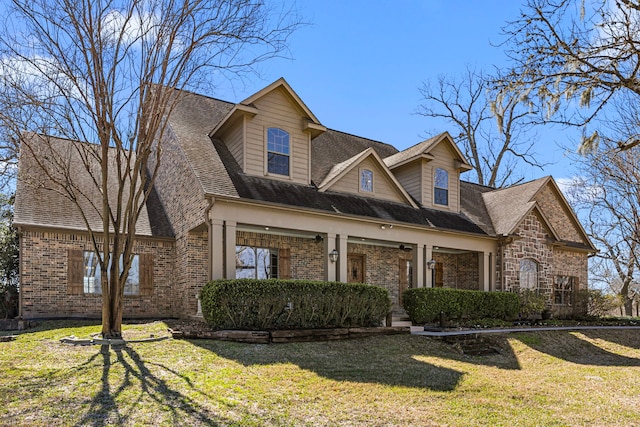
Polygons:
<instances>
[{"instance_id":1,"label":"larger tan-sided gable dormer, leftmost on the roof, with arched window","mask_svg":"<svg viewBox=\"0 0 640 427\"><path fill-rule=\"evenodd\" d=\"M247 175L311 182L311 139L324 132L284 79L240 102L210 133Z\"/></svg>"}]
</instances>

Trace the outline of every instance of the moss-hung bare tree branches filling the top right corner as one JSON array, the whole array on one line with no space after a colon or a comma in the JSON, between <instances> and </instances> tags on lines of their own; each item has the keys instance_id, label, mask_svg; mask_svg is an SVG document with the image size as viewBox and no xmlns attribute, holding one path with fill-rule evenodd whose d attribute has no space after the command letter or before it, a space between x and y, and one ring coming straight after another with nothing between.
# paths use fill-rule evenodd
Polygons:
<instances>
[{"instance_id":1,"label":"moss-hung bare tree branches filling the top right corner","mask_svg":"<svg viewBox=\"0 0 640 427\"><path fill-rule=\"evenodd\" d=\"M514 65L503 83L532 90L544 120L581 127L580 150L600 141L599 130L586 125L619 94L638 102L639 2L528 0L504 32ZM637 134L620 140L625 148L638 143Z\"/></svg>"}]
</instances>

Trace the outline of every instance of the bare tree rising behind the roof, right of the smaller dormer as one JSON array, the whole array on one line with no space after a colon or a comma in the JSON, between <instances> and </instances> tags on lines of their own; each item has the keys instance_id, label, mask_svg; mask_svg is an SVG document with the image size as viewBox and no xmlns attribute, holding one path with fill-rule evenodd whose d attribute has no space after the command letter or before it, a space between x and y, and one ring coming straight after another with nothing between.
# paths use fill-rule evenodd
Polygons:
<instances>
[{"instance_id":1,"label":"bare tree rising behind the roof, right of the smaller dormer","mask_svg":"<svg viewBox=\"0 0 640 427\"><path fill-rule=\"evenodd\" d=\"M499 188L524 179L518 172L523 163L543 165L536 161L527 94L520 88L494 88L493 80L467 69L459 78L440 76L435 87L424 83L418 114L451 123L476 182Z\"/></svg>"}]
</instances>

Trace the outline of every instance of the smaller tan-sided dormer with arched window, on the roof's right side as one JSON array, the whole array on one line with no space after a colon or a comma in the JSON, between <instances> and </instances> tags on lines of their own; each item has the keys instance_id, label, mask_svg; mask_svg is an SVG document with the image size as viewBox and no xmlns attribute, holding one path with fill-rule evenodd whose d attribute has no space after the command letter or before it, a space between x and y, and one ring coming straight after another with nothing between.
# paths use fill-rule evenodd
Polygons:
<instances>
[{"instance_id":1,"label":"smaller tan-sided dormer with arched window, on the roof's right side","mask_svg":"<svg viewBox=\"0 0 640 427\"><path fill-rule=\"evenodd\" d=\"M448 133L409 147L384 162L422 206L460 211L460 174L472 168Z\"/></svg>"}]
</instances>

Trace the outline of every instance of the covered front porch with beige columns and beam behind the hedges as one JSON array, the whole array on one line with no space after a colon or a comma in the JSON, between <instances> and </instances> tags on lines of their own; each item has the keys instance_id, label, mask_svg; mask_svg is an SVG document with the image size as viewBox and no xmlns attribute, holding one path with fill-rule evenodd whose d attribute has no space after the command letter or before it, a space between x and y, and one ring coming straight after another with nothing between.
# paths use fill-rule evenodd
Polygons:
<instances>
[{"instance_id":1,"label":"covered front porch with beige columns and beam behind the hedges","mask_svg":"<svg viewBox=\"0 0 640 427\"><path fill-rule=\"evenodd\" d=\"M211 279L253 271L237 256L252 248L268 256L269 277L383 286L395 307L410 287L494 290L490 238L227 201L209 214Z\"/></svg>"}]
</instances>

